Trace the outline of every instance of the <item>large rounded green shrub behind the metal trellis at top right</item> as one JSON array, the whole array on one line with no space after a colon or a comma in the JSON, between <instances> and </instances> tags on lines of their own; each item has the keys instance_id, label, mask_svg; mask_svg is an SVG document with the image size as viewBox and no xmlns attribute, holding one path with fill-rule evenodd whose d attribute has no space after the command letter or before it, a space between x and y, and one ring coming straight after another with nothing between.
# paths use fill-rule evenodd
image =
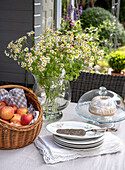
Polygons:
<instances>
[{"instance_id":1,"label":"large rounded green shrub behind the metal trellis at top right","mask_svg":"<svg viewBox=\"0 0 125 170\"><path fill-rule=\"evenodd\" d=\"M83 11L81 15L81 26L83 29L86 27L90 27L90 25L94 27L98 27L100 29L99 35L100 40L104 41L110 39L110 31L111 31L111 20L113 19L113 15L105 10L104 8L94 7L87 8ZM113 30L115 30L115 24ZM121 45L125 45L125 30L122 24L118 23L118 42Z\"/></svg>"}]
</instances>

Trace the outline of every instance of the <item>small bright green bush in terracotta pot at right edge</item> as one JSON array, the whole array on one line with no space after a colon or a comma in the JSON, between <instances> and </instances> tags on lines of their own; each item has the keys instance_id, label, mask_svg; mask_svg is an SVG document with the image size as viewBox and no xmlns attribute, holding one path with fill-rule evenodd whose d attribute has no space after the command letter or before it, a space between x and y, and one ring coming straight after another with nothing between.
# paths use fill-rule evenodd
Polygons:
<instances>
[{"instance_id":1,"label":"small bright green bush in terracotta pot at right edge","mask_svg":"<svg viewBox=\"0 0 125 170\"><path fill-rule=\"evenodd\" d=\"M125 54L120 52L110 53L108 64L113 69L112 74L124 75L122 70L125 69Z\"/></svg>"}]
</instances>

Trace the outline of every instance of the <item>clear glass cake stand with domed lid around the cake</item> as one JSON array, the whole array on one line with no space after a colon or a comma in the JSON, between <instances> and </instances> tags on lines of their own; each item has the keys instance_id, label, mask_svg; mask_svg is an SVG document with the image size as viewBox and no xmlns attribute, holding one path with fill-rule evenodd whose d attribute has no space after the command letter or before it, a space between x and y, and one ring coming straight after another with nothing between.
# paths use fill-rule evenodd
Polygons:
<instances>
[{"instance_id":1,"label":"clear glass cake stand with domed lid around the cake","mask_svg":"<svg viewBox=\"0 0 125 170\"><path fill-rule=\"evenodd\" d=\"M113 116L97 116L90 113L89 105L95 96L110 96L116 105L116 113ZM107 90L105 87L91 90L82 95L75 109L80 117L86 119L89 123L96 124L100 127L112 127L125 119L125 103L122 97L113 91Z\"/></svg>"}]
</instances>

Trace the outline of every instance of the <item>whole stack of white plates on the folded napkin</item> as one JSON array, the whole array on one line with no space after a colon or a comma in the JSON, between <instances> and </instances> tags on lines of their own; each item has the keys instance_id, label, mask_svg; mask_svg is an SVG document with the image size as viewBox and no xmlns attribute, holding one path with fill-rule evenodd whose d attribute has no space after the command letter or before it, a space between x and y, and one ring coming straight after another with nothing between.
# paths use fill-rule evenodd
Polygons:
<instances>
[{"instance_id":1,"label":"whole stack of white plates on the folded napkin","mask_svg":"<svg viewBox=\"0 0 125 170\"><path fill-rule=\"evenodd\" d=\"M100 129L100 127L83 122L65 121L47 125L47 130L53 134L53 141L60 147L67 149L89 150L101 146L104 141L104 132L86 132L84 136L57 133L57 129Z\"/></svg>"}]
</instances>

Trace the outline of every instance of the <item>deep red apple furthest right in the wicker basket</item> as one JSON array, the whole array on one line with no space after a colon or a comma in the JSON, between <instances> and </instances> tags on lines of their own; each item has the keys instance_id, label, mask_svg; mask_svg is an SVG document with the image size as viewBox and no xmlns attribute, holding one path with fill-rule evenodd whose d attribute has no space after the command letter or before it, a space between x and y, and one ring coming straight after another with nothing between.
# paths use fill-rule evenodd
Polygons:
<instances>
[{"instance_id":1,"label":"deep red apple furthest right in the wicker basket","mask_svg":"<svg viewBox=\"0 0 125 170\"><path fill-rule=\"evenodd\" d=\"M33 119L33 115L30 114L30 113L21 115L22 125L28 125L31 122L32 119Z\"/></svg>"}]
</instances>

